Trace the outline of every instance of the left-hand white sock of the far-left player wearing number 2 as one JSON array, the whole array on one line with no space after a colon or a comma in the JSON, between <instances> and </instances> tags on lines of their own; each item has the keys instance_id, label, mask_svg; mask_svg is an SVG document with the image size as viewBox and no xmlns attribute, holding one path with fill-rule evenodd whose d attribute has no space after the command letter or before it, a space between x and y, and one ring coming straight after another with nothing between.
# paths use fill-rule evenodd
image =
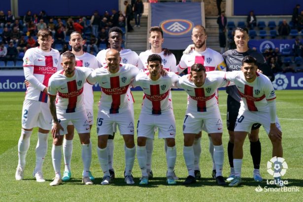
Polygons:
<instances>
[{"instance_id":1,"label":"left-hand white sock of the far-left player wearing number 2","mask_svg":"<svg viewBox=\"0 0 303 202\"><path fill-rule=\"evenodd\" d=\"M30 137L33 131L21 130L21 135L18 142L18 167L25 167L26 153L30 148Z\"/></svg>"}]
</instances>

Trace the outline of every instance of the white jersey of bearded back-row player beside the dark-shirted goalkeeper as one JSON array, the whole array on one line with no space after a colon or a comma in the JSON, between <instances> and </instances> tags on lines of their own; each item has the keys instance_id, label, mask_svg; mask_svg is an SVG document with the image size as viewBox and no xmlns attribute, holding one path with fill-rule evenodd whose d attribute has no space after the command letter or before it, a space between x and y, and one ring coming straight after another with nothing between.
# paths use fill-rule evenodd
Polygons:
<instances>
[{"instance_id":1,"label":"white jersey of bearded back-row player beside the dark-shirted goalkeeper","mask_svg":"<svg viewBox=\"0 0 303 202\"><path fill-rule=\"evenodd\" d=\"M177 66L178 72L181 73L187 68L189 73L190 68L195 63L202 64L206 71L226 71L226 64L222 55L211 48L206 48L203 52L191 50L189 54L182 55L179 65Z\"/></svg>"}]
</instances>

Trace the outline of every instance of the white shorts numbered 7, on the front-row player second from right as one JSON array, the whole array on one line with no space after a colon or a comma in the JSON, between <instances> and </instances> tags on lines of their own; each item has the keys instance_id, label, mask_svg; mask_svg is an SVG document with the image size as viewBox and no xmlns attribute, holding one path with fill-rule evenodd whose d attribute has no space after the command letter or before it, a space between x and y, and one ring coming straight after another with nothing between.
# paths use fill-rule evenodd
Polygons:
<instances>
[{"instance_id":1,"label":"white shorts numbered 7, on the front-row player second from right","mask_svg":"<svg viewBox=\"0 0 303 202\"><path fill-rule=\"evenodd\" d=\"M198 134L200 131L211 133L223 133L221 114L218 108L199 112L187 110L183 122L184 134Z\"/></svg>"}]
</instances>

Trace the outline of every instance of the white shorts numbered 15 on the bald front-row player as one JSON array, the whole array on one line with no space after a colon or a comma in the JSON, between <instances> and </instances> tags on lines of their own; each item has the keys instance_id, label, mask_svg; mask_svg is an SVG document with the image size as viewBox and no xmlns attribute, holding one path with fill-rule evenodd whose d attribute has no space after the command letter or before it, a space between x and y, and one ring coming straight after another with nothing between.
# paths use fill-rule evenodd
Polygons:
<instances>
[{"instance_id":1,"label":"white shorts numbered 15 on the bald front-row player","mask_svg":"<svg viewBox=\"0 0 303 202\"><path fill-rule=\"evenodd\" d=\"M118 125L121 135L134 135L134 110L129 109L122 113L108 114L101 110L97 118L97 135L112 135L114 126Z\"/></svg>"}]
</instances>

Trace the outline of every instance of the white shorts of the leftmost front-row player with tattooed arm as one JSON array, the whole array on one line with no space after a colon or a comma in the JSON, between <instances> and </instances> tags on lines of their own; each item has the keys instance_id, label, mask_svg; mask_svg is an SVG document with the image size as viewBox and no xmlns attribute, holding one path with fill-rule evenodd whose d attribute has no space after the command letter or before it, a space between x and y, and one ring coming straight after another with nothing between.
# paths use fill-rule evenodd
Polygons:
<instances>
[{"instance_id":1,"label":"white shorts of the leftmost front-row player with tattooed arm","mask_svg":"<svg viewBox=\"0 0 303 202\"><path fill-rule=\"evenodd\" d=\"M57 118L64 131L60 130L60 135L67 134L67 125L69 122L75 127L78 134L90 133L90 124L87 120L86 111L76 111L72 113L61 113L57 111Z\"/></svg>"}]
</instances>

